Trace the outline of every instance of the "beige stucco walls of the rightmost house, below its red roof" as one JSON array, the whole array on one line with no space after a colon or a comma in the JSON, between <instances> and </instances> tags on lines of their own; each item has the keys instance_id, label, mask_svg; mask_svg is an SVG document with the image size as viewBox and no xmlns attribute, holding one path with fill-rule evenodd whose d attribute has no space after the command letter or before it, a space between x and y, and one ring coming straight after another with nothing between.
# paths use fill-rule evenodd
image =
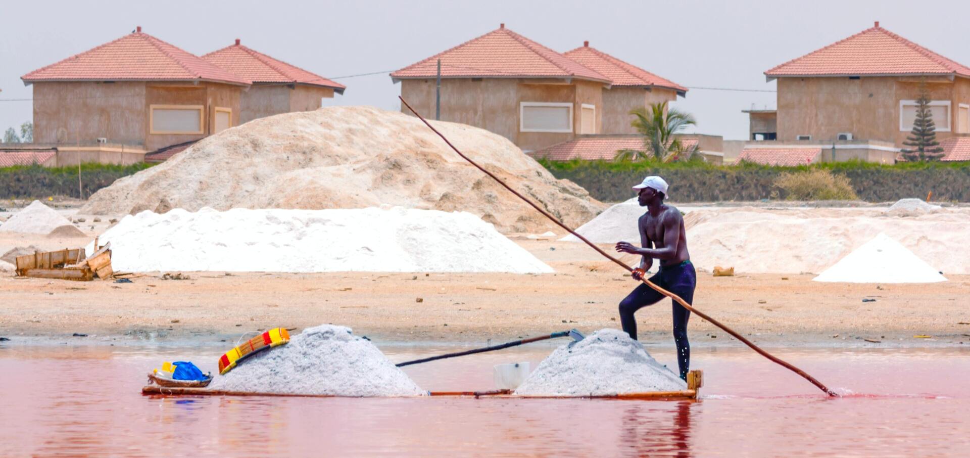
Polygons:
<instances>
[{"instance_id":1,"label":"beige stucco walls of the rightmost house, below its red roof","mask_svg":"<svg viewBox=\"0 0 970 458\"><path fill-rule=\"evenodd\" d=\"M970 80L929 78L932 100L952 104L952 127L956 107L970 104ZM909 130L899 129L899 101L914 100L920 78L862 77L781 78L778 80L778 140L793 141L797 135L811 135L813 141L831 141L838 133L851 132L857 140L902 143ZM940 123L937 122L937 127ZM952 132L937 132L945 140Z\"/></svg>"}]
</instances>

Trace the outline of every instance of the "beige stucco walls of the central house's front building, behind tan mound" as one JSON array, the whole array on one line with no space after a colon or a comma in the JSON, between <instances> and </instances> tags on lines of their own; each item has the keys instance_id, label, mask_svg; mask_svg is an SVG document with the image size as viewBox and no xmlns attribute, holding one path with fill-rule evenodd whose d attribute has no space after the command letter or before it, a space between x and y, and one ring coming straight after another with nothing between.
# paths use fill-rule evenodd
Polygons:
<instances>
[{"instance_id":1,"label":"beige stucco walls of the central house's front building, behind tan mound","mask_svg":"<svg viewBox=\"0 0 970 458\"><path fill-rule=\"evenodd\" d=\"M572 140L579 132L582 104L596 107L597 130L602 129L602 83L530 79L441 80L441 120L461 122L499 134L524 150ZM435 80L403 80L401 95L414 110L435 117ZM573 132L520 132L521 102L573 104ZM410 112L402 106L402 112Z\"/></svg>"}]
</instances>

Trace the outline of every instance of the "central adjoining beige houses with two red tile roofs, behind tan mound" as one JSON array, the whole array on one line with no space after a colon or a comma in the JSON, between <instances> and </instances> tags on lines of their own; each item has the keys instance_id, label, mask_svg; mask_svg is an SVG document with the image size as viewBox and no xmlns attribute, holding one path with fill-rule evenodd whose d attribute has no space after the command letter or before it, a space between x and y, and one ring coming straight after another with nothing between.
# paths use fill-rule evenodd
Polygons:
<instances>
[{"instance_id":1,"label":"central adjoining beige houses with two red tile roofs, behind tan mound","mask_svg":"<svg viewBox=\"0 0 970 458\"><path fill-rule=\"evenodd\" d=\"M631 133L632 108L675 100L687 91L583 48L561 53L501 24L395 71L391 79L401 82L402 97L422 115L435 117L440 92L441 120L490 130L527 151L579 135Z\"/></svg>"}]
</instances>

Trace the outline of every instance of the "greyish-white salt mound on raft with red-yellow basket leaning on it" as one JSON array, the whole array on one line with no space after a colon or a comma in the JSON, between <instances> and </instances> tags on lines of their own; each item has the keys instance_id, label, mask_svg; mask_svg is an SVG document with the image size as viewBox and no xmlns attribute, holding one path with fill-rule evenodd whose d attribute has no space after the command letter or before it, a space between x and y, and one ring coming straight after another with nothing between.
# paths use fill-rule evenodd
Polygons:
<instances>
[{"instance_id":1,"label":"greyish-white salt mound on raft with red-yellow basket leaning on it","mask_svg":"<svg viewBox=\"0 0 970 458\"><path fill-rule=\"evenodd\" d=\"M307 328L289 344L246 358L225 376L216 376L209 388L331 396L427 394L371 341L333 325Z\"/></svg>"}]
</instances>

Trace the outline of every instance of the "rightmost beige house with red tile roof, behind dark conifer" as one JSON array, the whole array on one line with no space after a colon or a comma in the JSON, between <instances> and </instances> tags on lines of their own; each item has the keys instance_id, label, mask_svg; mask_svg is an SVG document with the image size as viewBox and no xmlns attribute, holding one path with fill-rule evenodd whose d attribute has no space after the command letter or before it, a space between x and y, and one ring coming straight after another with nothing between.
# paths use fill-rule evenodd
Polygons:
<instances>
[{"instance_id":1,"label":"rightmost beige house with red tile roof, behind dark conifer","mask_svg":"<svg viewBox=\"0 0 970 458\"><path fill-rule=\"evenodd\" d=\"M838 161L857 157L847 151L867 143L864 159L894 162L913 128L921 82L932 100L937 140L970 133L970 67L896 35L879 22L764 75L777 81L777 110L759 112L757 128L752 114L751 140L774 136L779 154L786 153L780 144L808 143L833 148L831 160ZM760 132L763 126L776 132ZM889 147L882 147L883 142Z\"/></svg>"}]
</instances>

